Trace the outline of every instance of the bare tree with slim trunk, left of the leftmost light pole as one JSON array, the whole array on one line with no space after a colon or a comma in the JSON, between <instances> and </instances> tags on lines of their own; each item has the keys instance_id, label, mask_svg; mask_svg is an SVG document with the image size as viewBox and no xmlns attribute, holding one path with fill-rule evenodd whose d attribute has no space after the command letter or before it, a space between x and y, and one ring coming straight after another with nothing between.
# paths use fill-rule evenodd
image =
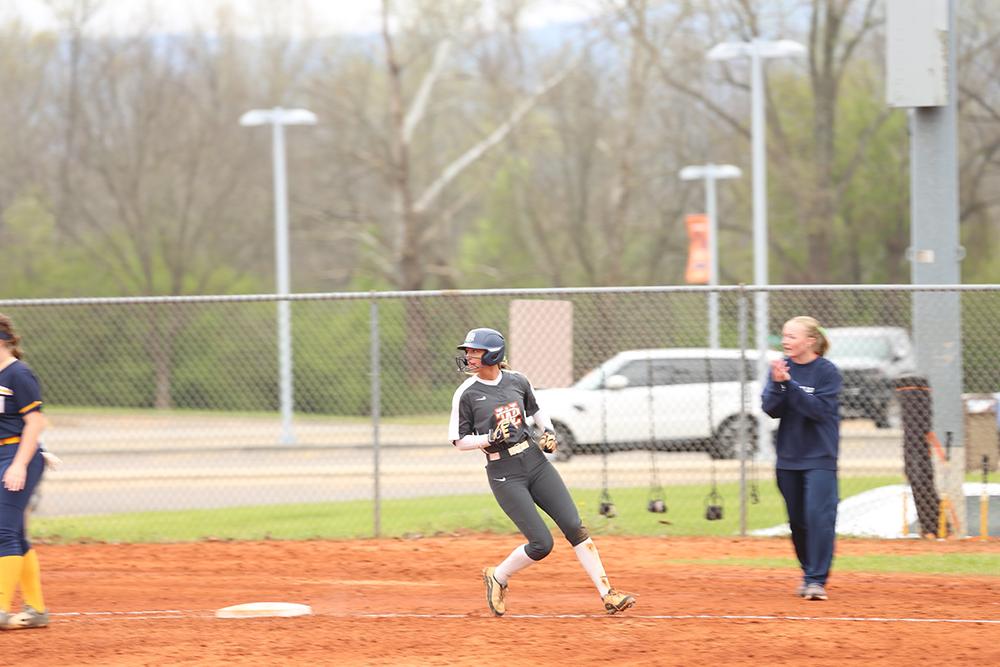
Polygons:
<instances>
[{"instance_id":1,"label":"bare tree with slim trunk, left of the leftmost light pole","mask_svg":"<svg viewBox=\"0 0 1000 667\"><path fill-rule=\"evenodd\" d=\"M73 24L76 29L82 26ZM150 24L152 25L152 23ZM249 68L239 42L163 41L151 32L87 39L68 52L72 123L54 191L60 228L125 294L226 292L248 282L269 247L267 199L247 196L254 142L237 124L248 108ZM266 152L263 153L266 155ZM253 193L253 190L250 190ZM171 404L181 311L150 313L154 403Z\"/></svg>"}]
</instances>

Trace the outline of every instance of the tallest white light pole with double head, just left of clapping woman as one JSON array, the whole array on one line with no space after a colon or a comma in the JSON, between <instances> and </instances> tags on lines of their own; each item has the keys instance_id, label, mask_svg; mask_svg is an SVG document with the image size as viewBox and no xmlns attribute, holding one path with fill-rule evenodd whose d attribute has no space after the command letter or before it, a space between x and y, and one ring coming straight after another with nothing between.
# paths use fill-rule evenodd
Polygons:
<instances>
[{"instance_id":1,"label":"tallest white light pole with double head, just left of clapping woman","mask_svg":"<svg viewBox=\"0 0 1000 667\"><path fill-rule=\"evenodd\" d=\"M765 287L767 280L767 154L764 140L767 127L764 117L764 60L788 58L806 54L806 47L787 39L752 42L723 42L709 50L709 60L735 60L750 58L751 142L753 144L753 281ZM757 378L763 382L767 375L767 292L754 294L754 326L757 338ZM766 416L760 414L757 424L758 439L763 451Z\"/></svg>"}]
</instances>

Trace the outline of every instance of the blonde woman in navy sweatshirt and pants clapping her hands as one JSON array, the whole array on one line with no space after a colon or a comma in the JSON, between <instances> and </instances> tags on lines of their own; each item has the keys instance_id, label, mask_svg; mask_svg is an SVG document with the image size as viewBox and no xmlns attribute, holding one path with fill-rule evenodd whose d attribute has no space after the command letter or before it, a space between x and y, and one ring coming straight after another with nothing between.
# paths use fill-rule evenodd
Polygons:
<instances>
[{"instance_id":1,"label":"blonde woman in navy sweatshirt and pants clapping her hands","mask_svg":"<svg viewBox=\"0 0 1000 667\"><path fill-rule=\"evenodd\" d=\"M830 343L811 317L786 322L781 346L786 356L771 363L763 408L780 419L775 468L802 566L797 592L826 600L839 502L840 371L823 356Z\"/></svg>"}]
</instances>

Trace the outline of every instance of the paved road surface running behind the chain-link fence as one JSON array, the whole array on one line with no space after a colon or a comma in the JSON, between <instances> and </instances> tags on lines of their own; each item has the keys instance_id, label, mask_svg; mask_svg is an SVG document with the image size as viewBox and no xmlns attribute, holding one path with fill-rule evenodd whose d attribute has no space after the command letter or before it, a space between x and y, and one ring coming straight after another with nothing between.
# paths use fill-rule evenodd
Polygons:
<instances>
[{"instance_id":1,"label":"paved road surface running behind the chain-link fence","mask_svg":"<svg viewBox=\"0 0 1000 667\"><path fill-rule=\"evenodd\" d=\"M844 475L900 474L901 434L870 422L847 422ZM258 418L53 418L47 446L64 459L49 471L38 514L65 516L145 510L370 499L375 456L371 425L322 421L297 425L298 443L276 445L274 420ZM383 498L488 492L478 453L456 452L440 425L380 426ZM650 483L650 452L608 456L612 486ZM703 453L657 452L664 485L739 479L738 461L714 464ZM558 463L567 484L600 488L603 459L575 456ZM758 461L760 479L773 476Z\"/></svg>"}]
</instances>

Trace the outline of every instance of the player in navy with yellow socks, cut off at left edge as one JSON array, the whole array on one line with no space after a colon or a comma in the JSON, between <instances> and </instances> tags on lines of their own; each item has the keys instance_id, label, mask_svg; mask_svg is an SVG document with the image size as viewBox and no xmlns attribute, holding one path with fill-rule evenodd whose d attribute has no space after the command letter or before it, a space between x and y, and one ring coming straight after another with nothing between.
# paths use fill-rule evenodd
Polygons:
<instances>
[{"instance_id":1,"label":"player in navy with yellow socks, cut off at left edge","mask_svg":"<svg viewBox=\"0 0 1000 667\"><path fill-rule=\"evenodd\" d=\"M45 467L38 446L44 428L38 379L20 360L21 339L0 315L0 629L49 624L38 556L24 530L25 510ZM18 584L24 610L10 614Z\"/></svg>"}]
</instances>

